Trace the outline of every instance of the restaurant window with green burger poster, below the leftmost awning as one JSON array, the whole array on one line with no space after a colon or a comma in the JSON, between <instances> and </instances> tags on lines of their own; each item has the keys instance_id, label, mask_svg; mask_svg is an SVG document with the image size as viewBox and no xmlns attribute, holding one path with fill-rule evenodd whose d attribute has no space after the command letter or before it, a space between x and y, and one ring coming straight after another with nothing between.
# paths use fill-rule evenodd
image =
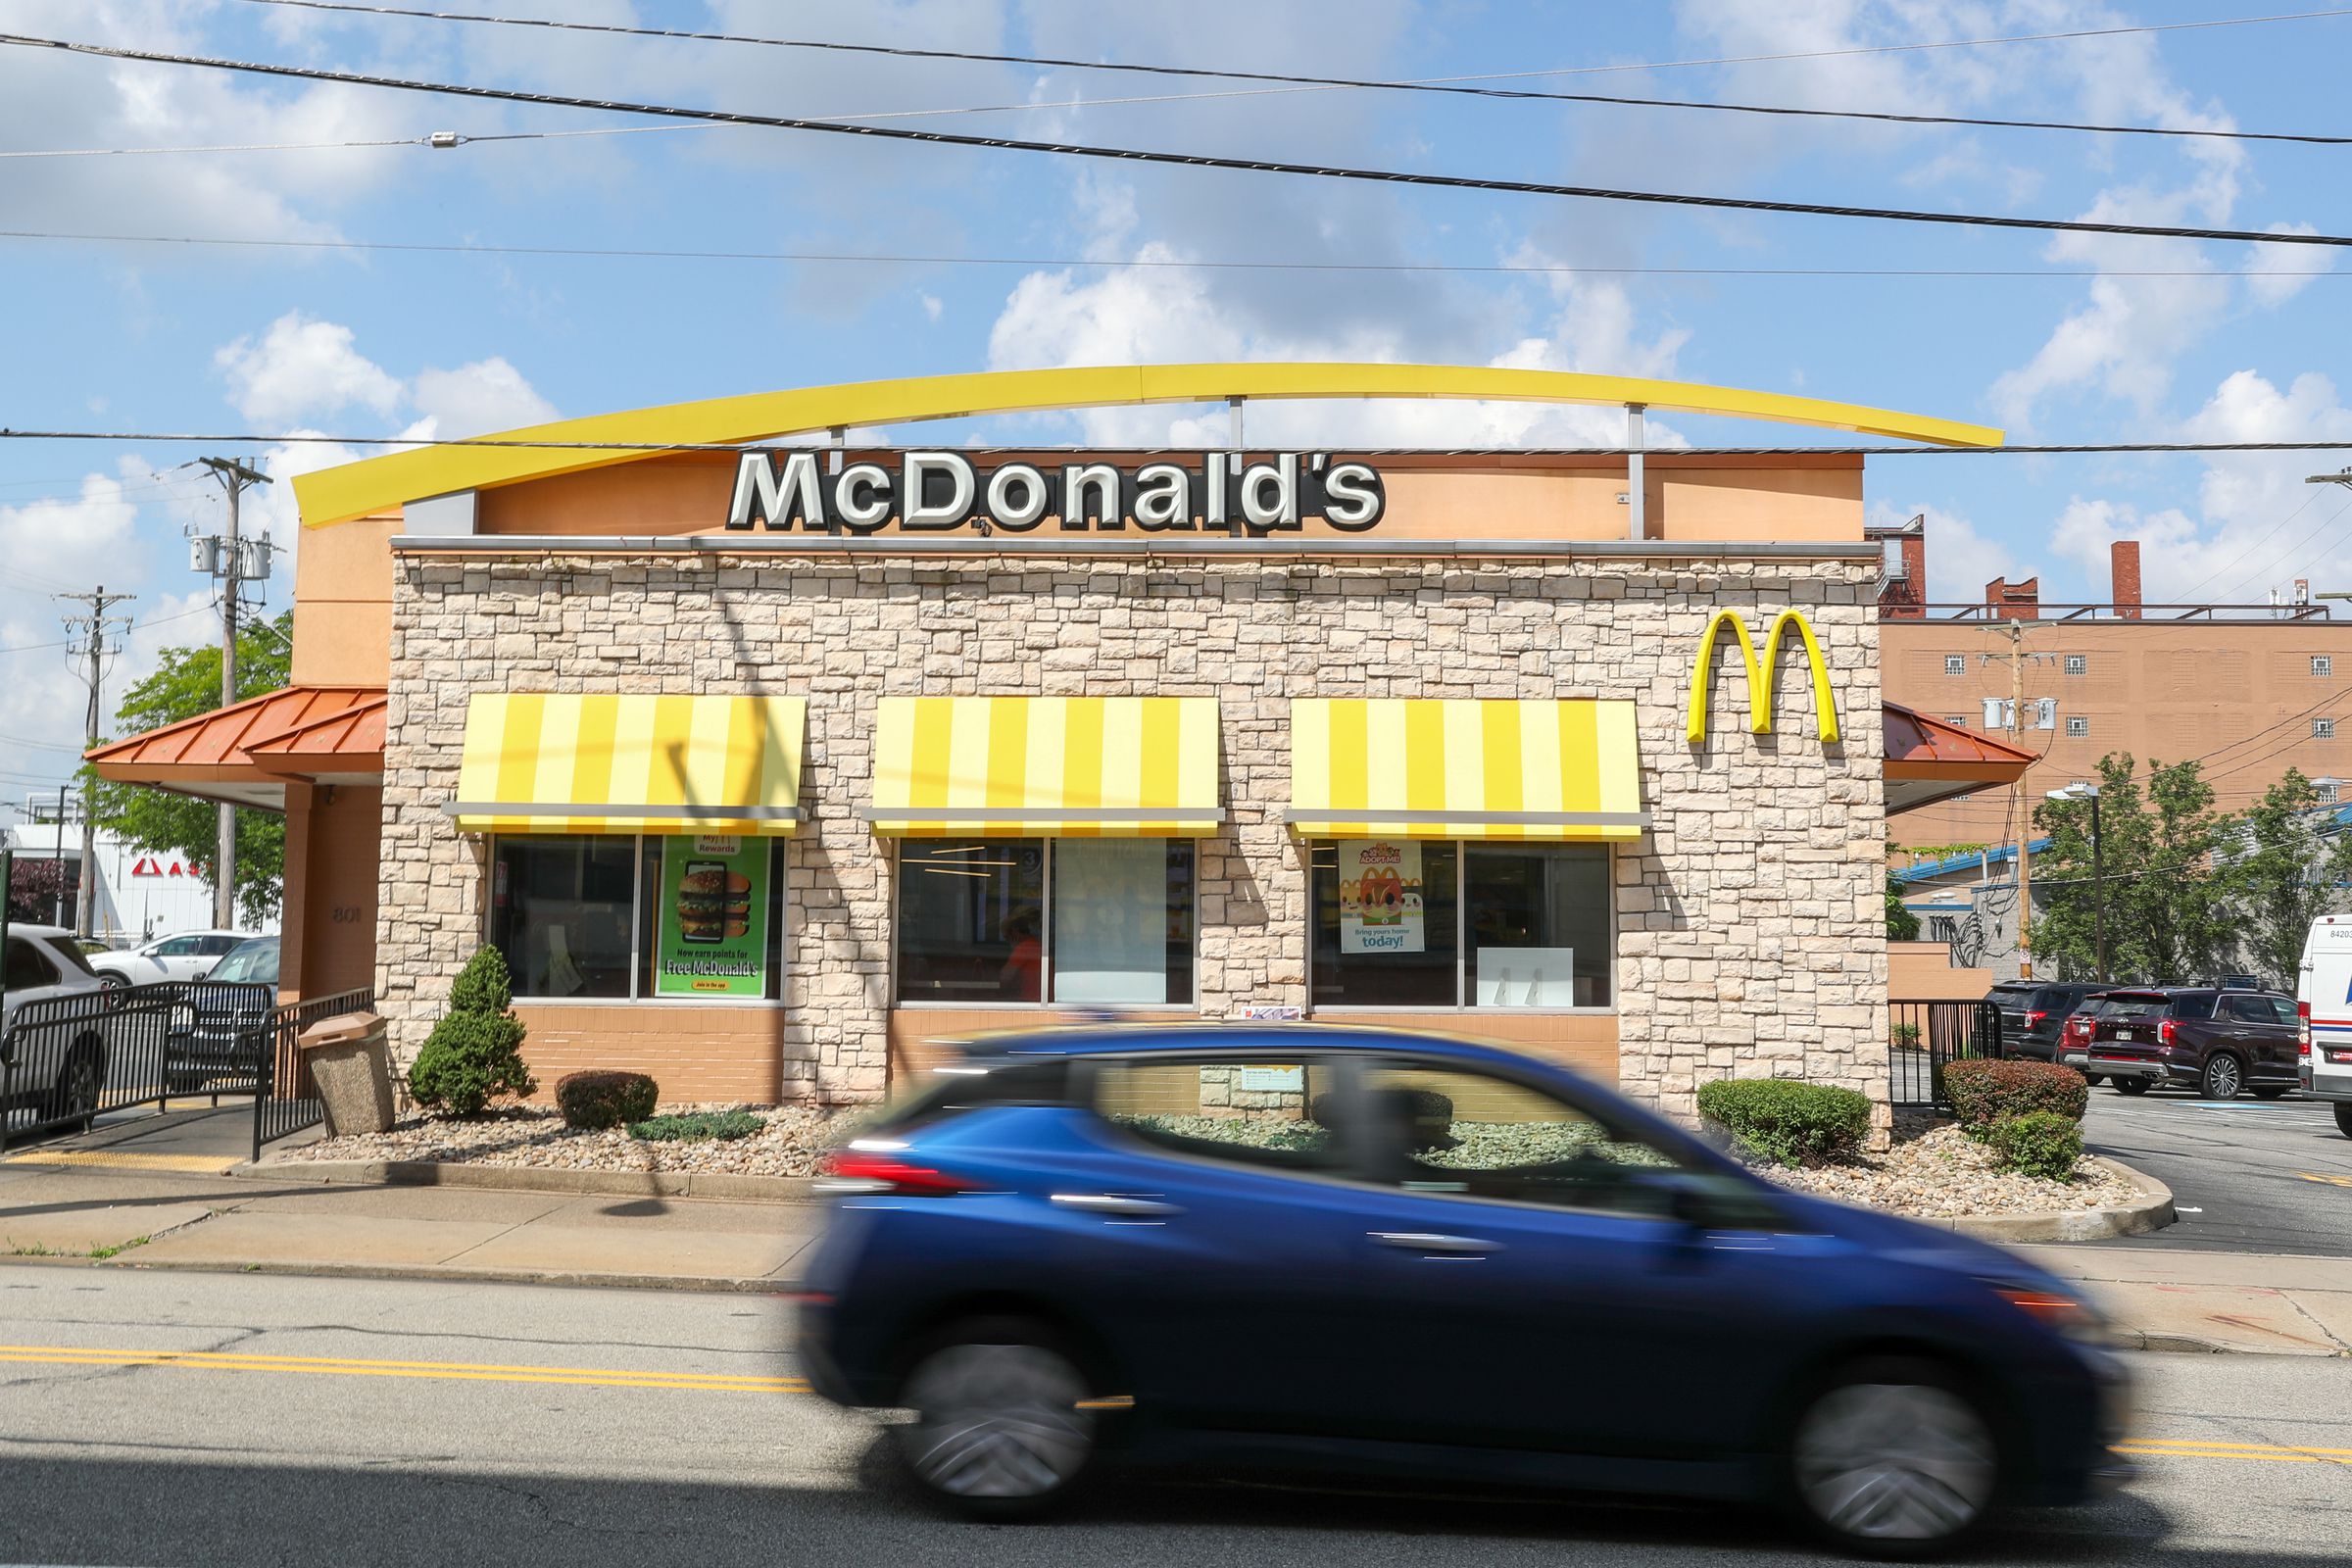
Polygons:
<instances>
[{"instance_id":1,"label":"restaurant window with green burger poster, below the leftmost awning","mask_svg":"<svg viewBox=\"0 0 2352 1568\"><path fill-rule=\"evenodd\" d=\"M499 837L489 945L520 1001L774 1001L779 858L764 837Z\"/></svg>"}]
</instances>

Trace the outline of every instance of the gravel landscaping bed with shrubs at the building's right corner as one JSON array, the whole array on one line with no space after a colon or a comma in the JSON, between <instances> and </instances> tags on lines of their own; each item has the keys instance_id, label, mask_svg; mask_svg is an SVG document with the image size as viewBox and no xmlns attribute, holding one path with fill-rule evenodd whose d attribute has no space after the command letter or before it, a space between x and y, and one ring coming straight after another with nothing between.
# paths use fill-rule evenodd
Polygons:
<instances>
[{"instance_id":1,"label":"gravel landscaping bed with shrubs at the building's right corner","mask_svg":"<svg viewBox=\"0 0 2352 1568\"><path fill-rule=\"evenodd\" d=\"M1896 1114L1893 1147L1884 1154L1795 1171L1766 1164L1757 1173L1783 1187L1922 1220L2124 1208L2143 1199L2091 1157L2074 1161L2074 1178L2065 1182L2002 1171L1999 1157L1955 1121L1922 1114Z\"/></svg>"}]
</instances>

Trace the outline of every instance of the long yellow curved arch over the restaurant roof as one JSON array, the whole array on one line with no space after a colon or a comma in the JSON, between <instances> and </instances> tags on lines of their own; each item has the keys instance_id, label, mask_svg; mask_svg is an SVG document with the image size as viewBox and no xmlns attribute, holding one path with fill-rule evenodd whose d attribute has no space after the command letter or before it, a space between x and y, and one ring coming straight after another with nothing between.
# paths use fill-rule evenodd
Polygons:
<instances>
[{"instance_id":1,"label":"long yellow curved arch over the restaurant roof","mask_svg":"<svg viewBox=\"0 0 2352 1568\"><path fill-rule=\"evenodd\" d=\"M567 442L562 447L421 447L322 468L294 480L306 527L367 517L423 496L546 480L583 468L630 463L652 451L595 451L595 442L739 444L847 425L898 425L974 414L1103 409L1145 402L1223 402L1225 397L1454 397L1477 402L1639 402L1677 414L1726 414L1790 425L1889 435L1936 447L1999 447L2002 433L1924 414L1896 414L1853 402L1748 393L1693 381L1585 376L1581 371L1496 369L1489 364L1117 364L1075 369L981 371L847 381L790 393L748 393L670 402L626 414L560 418L503 430L494 440ZM583 447L586 444L586 447Z\"/></svg>"}]
</instances>

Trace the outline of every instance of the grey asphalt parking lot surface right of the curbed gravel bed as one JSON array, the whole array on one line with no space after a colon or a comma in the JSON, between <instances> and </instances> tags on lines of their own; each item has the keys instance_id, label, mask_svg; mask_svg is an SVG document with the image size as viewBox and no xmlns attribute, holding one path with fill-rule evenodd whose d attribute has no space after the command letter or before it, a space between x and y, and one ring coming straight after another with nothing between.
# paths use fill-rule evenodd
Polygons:
<instances>
[{"instance_id":1,"label":"grey asphalt parking lot surface right of the curbed gravel bed","mask_svg":"<svg viewBox=\"0 0 2352 1568\"><path fill-rule=\"evenodd\" d=\"M2157 1246L2352 1258L2352 1138L2321 1100L2091 1091L2084 1143L2173 1190ZM2122 1239L2107 1246L2133 1246Z\"/></svg>"}]
</instances>

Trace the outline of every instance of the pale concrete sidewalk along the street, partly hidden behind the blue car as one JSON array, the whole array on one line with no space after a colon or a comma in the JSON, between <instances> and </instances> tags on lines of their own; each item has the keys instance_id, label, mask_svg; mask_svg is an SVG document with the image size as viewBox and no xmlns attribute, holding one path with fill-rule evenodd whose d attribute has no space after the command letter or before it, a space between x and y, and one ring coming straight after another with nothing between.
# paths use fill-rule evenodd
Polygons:
<instances>
[{"instance_id":1,"label":"pale concrete sidewalk along the street, partly hidden behind the blue car","mask_svg":"<svg viewBox=\"0 0 2352 1568\"><path fill-rule=\"evenodd\" d=\"M247 1145L183 1112L101 1124L0 1161L0 1258L94 1267L397 1274L532 1284L781 1291L814 1204L367 1187L223 1175ZM2126 1345L2352 1354L2352 1258L2138 1244L2020 1246L2089 1286Z\"/></svg>"}]
</instances>

